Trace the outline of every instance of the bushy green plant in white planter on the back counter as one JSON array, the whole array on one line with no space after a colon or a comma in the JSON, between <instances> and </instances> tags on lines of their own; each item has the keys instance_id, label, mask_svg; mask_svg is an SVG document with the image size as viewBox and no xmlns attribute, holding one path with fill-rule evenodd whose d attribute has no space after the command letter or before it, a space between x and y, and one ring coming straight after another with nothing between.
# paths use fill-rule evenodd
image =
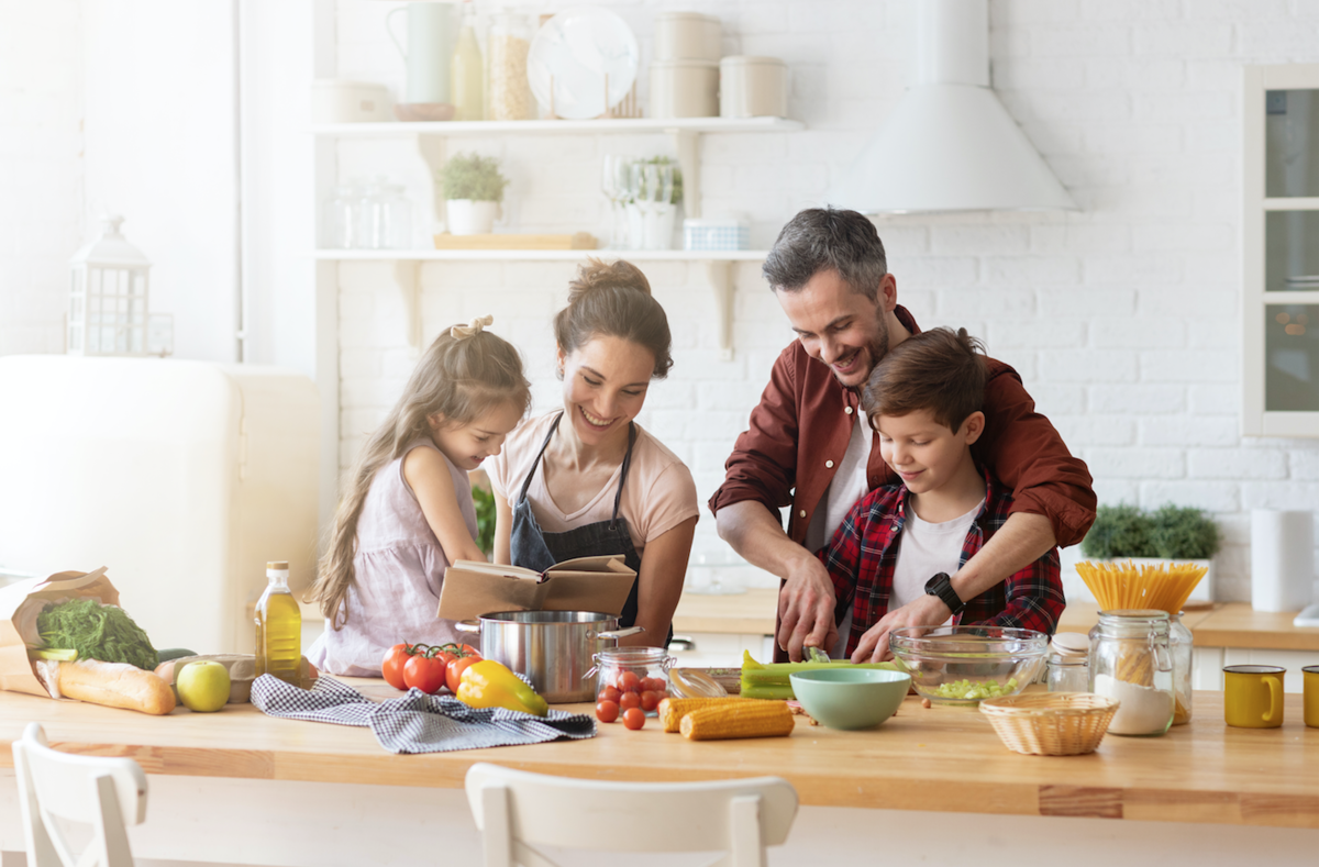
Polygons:
<instances>
[{"instance_id":1,"label":"bushy green plant in white planter on the back counter","mask_svg":"<svg viewBox=\"0 0 1319 867\"><path fill-rule=\"evenodd\" d=\"M1221 547L1219 526L1199 509L1167 503L1154 511L1119 503L1100 506L1095 523L1080 543L1089 560L1126 561L1137 565L1194 563L1208 572L1191 593L1192 602L1213 598L1213 555Z\"/></svg>"}]
</instances>

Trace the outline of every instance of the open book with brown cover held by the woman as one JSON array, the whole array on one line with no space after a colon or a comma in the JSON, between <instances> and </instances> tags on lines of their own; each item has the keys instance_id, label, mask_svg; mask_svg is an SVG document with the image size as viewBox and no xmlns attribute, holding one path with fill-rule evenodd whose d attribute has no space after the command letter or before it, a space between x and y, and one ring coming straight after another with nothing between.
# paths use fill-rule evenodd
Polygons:
<instances>
[{"instance_id":1,"label":"open book with brown cover held by the woman","mask_svg":"<svg viewBox=\"0 0 1319 867\"><path fill-rule=\"evenodd\" d=\"M543 573L459 560L445 571L439 617L471 621L493 611L623 611L637 573L605 555L557 563Z\"/></svg>"}]
</instances>

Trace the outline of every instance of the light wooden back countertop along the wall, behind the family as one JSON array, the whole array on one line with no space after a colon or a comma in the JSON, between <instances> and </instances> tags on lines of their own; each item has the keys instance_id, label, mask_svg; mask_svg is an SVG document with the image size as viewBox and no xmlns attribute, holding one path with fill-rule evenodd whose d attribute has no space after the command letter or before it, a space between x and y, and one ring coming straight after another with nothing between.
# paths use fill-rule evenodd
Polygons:
<instances>
[{"instance_id":1,"label":"light wooden back countertop along the wall, behind the family","mask_svg":"<svg viewBox=\"0 0 1319 867\"><path fill-rule=\"evenodd\" d=\"M675 632L741 632L773 635L778 592L747 590L736 596L683 594L673 615ZM1319 627L1293 626L1295 611L1256 611L1244 602L1228 602L1187 611L1182 623L1195 635L1198 647L1297 650L1319 654ZM1074 602L1063 611L1059 631L1087 632L1099 622L1099 606ZM1319 661L1319 660L1316 660Z\"/></svg>"}]
</instances>

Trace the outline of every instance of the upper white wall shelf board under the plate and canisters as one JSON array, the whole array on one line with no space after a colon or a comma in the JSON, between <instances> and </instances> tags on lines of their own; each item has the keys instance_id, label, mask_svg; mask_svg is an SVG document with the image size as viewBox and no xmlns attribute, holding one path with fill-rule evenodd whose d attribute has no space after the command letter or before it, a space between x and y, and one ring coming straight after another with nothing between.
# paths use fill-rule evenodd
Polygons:
<instances>
[{"instance_id":1,"label":"upper white wall shelf board under the plate and canisters","mask_svg":"<svg viewBox=\"0 0 1319 867\"><path fill-rule=\"evenodd\" d=\"M620 117L615 120L452 120L445 123L319 124L317 136L492 136L508 133L766 133L806 125L786 117Z\"/></svg>"}]
</instances>

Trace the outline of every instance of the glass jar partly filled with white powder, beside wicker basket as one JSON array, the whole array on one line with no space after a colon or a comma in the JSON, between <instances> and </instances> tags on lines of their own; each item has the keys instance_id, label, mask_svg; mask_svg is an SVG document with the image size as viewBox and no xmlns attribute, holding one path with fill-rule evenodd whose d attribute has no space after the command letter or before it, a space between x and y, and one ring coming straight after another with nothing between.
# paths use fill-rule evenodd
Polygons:
<instances>
[{"instance_id":1,"label":"glass jar partly filled with white powder, beside wicker basket","mask_svg":"<svg viewBox=\"0 0 1319 867\"><path fill-rule=\"evenodd\" d=\"M1089 631L1089 690L1121 702L1108 730L1161 735L1173 725L1167 611L1100 611Z\"/></svg>"}]
</instances>

